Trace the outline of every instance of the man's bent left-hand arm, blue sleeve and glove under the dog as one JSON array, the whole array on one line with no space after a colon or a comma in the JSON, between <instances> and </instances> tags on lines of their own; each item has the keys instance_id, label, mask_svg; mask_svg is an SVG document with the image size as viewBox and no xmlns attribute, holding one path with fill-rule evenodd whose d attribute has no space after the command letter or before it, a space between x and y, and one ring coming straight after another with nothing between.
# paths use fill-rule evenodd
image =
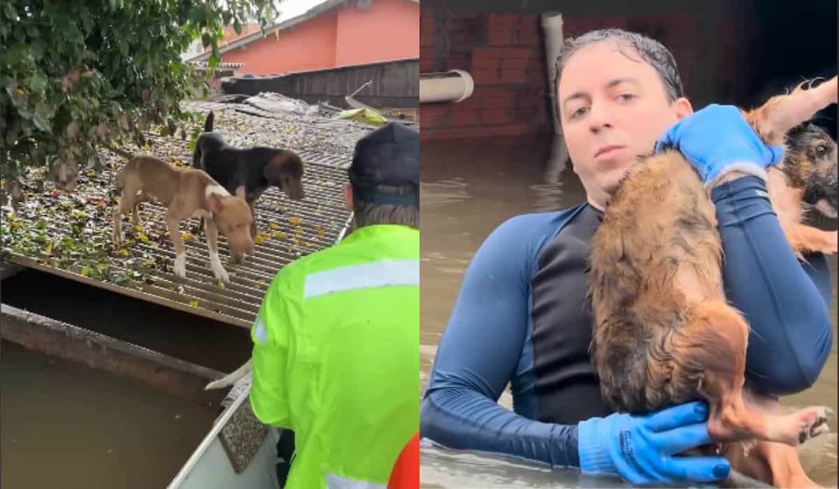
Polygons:
<instances>
[{"instance_id":1,"label":"man's bent left-hand arm, blue sleeve and glove under the dog","mask_svg":"<svg viewBox=\"0 0 839 489\"><path fill-rule=\"evenodd\" d=\"M545 233L545 216L503 223L466 269L420 409L420 435L451 449L575 466L639 483L725 477L730 467L720 456L674 456L711 442L702 403L579 424L542 423L498 405L522 355L529 268L543 238L538 235Z\"/></svg>"}]
</instances>

